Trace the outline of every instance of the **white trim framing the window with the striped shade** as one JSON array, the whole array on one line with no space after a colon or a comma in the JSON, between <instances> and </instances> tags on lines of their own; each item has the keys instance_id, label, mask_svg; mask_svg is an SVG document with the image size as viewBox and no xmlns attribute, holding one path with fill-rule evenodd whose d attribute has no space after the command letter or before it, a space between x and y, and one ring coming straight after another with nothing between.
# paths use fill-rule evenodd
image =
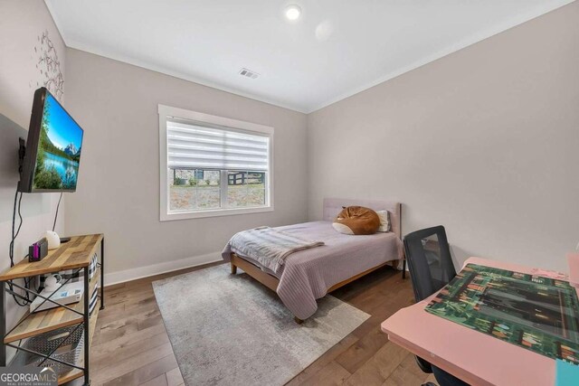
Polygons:
<instances>
[{"instance_id":1,"label":"white trim framing the window with the striped shade","mask_svg":"<svg viewBox=\"0 0 579 386\"><path fill-rule=\"evenodd\" d=\"M235 214L249 214L273 212L273 127L263 126L242 120L223 118L204 114L185 108L173 108L158 105L159 114L159 166L160 166L160 221L200 219L204 217L231 216ZM270 137L270 159L268 165L268 178L266 178L265 194L267 205L256 208L220 208L195 212L169 212L169 187L167 184L167 152L166 152L166 121L167 117L191 119L211 125L231 127L250 132L266 134Z\"/></svg>"}]
</instances>

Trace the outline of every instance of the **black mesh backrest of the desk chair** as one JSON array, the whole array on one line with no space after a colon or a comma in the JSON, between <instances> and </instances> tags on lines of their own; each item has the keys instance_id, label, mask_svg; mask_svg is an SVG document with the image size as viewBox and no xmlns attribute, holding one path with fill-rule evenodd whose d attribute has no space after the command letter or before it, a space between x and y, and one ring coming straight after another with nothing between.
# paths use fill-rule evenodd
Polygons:
<instances>
[{"instance_id":1,"label":"black mesh backrest of the desk chair","mask_svg":"<svg viewBox=\"0 0 579 386\"><path fill-rule=\"evenodd\" d=\"M430 297L456 276L449 242L441 225L404 236L404 253L417 302Z\"/></svg>"}]
</instances>

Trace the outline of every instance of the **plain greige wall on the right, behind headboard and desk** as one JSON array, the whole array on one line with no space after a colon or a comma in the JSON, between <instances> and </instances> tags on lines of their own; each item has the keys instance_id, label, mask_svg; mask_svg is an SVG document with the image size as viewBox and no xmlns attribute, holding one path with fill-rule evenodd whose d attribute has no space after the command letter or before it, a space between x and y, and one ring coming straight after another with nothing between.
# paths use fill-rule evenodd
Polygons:
<instances>
[{"instance_id":1,"label":"plain greige wall on the right, behind headboard and desk","mask_svg":"<svg viewBox=\"0 0 579 386\"><path fill-rule=\"evenodd\" d=\"M308 116L324 196L403 202L469 256L566 270L579 241L579 3Z\"/></svg>"}]
</instances>

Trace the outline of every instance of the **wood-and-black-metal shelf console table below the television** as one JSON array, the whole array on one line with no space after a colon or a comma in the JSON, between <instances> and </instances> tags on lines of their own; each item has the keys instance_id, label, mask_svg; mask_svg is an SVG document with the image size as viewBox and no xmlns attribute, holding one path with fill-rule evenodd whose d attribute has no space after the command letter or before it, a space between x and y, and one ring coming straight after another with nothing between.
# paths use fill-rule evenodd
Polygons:
<instances>
[{"instance_id":1,"label":"wood-and-black-metal shelf console table below the television","mask_svg":"<svg viewBox=\"0 0 579 386\"><path fill-rule=\"evenodd\" d=\"M70 241L61 245L59 249L53 249L48 252L41 261L29 262L28 259L23 259L14 267L6 269L0 274L0 333L2 339L0 340L0 366L6 365L6 348L13 347L16 350L22 350L26 353L38 355L45 360L50 359L53 362L60 362L62 364L71 366L70 372L65 372L60 375L58 384L62 384L84 376L84 384L90 384L89 375L89 355L90 343L92 335L94 334L95 325L99 310L104 308L104 235L90 234L83 236L72 237ZM100 247L100 269L97 269L94 276L90 278L89 268L92 257ZM34 289L29 289L14 283L12 280L17 278L31 278L38 275L56 273L59 271L71 269L74 274L82 272L84 280L84 292L81 301L68 306L59 306L50 308L35 313L26 311L20 321L14 327L6 332L6 293L22 298L22 295L14 291L18 288L21 291L27 292L33 297L41 297L44 302L51 302L58 304L51 299L54 292L48 297L44 297L36 293ZM100 280L100 295L97 299L92 314L90 314L90 296L93 288ZM68 280L62 280L62 285L66 284ZM60 289L60 287L59 287ZM36 353L23 346L20 346L22 340L32 336L43 334L58 328L76 325L76 328L82 328L84 334L84 355L81 360L76 363L62 362L53 358L52 353L43 354ZM65 340L62 341L64 343ZM62 344L61 343L61 344Z\"/></svg>"}]
</instances>

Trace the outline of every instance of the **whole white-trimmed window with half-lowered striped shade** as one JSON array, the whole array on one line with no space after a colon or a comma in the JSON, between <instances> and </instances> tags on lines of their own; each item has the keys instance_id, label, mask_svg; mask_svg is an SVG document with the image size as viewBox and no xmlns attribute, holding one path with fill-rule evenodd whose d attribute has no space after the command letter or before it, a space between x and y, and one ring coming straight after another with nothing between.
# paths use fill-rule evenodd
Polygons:
<instances>
[{"instance_id":1,"label":"whole white-trimmed window with half-lowered striped shade","mask_svg":"<svg viewBox=\"0 0 579 386\"><path fill-rule=\"evenodd\" d=\"M273 128L159 105L161 221L273 210Z\"/></svg>"}]
</instances>

